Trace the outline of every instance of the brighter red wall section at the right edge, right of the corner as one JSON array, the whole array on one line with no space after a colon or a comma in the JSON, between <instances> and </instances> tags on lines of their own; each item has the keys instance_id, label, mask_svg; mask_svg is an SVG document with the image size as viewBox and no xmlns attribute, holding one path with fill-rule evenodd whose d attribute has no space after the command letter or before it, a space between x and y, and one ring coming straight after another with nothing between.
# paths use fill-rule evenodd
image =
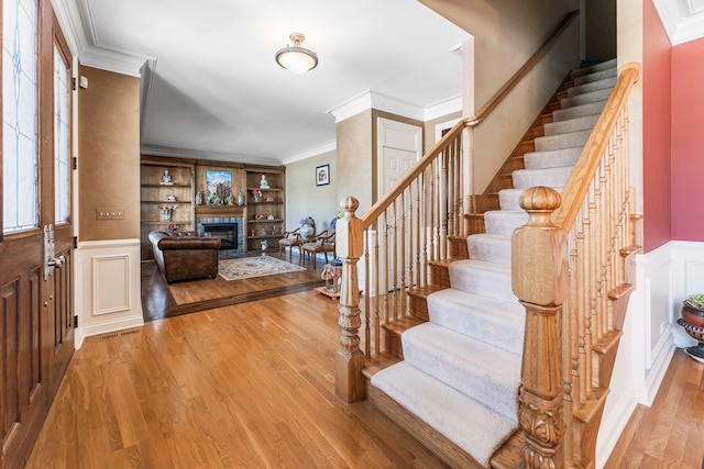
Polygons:
<instances>
[{"instance_id":1,"label":"brighter red wall section at the right edge, right of the corner","mask_svg":"<svg viewBox=\"0 0 704 469\"><path fill-rule=\"evenodd\" d=\"M672 48L672 239L704 241L704 38Z\"/></svg>"}]
</instances>

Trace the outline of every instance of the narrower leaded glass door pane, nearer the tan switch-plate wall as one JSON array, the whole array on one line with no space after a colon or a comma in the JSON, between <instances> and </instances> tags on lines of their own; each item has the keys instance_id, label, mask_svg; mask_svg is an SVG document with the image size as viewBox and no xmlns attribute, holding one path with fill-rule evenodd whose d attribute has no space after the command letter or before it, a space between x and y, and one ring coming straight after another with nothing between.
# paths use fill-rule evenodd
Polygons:
<instances>
[{"instance_id":1,"label":"narrower leaded glass door pane, nearer the tan switch-plate wall","mask_svg":"<svg viewBox=\"0 0 704 469\"><path fill-rule=\"evenodd\" d=\"M70 209L70 125L68 67L54 45L54 203L55 222L68 223Z\"/></svg>"}]
</instances>

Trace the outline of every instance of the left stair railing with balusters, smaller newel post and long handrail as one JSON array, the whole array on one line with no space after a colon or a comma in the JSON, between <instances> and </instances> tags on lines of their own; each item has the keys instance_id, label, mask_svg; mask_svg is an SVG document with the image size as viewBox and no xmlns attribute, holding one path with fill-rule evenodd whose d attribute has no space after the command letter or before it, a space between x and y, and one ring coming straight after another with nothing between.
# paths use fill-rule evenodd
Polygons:
<instances>
[{"instance_id":1,"label":"left stair railing with balusters, smaller newel post and long handrail","mask_svg":"<svg viewBox=\"0 0 704 469\"><path fill-rule=\"evenodd\" d=\"M340 203L344 213L337 223L337 254L343 266L341 337L334 367L336 392L343 402L364 398L362 369L381 357L383 326L406 317L408 289L427 286L429 263L447 257L449 238L466 235L464 215L473 211L468 206L473 197L466 194L473 194L474 188L465 187L472 186L472 178L465 182L465 175L474 174L468 169L474 156L471 145L465 150L463 142L471 141L474 127L538 65L578 16L579 11L565 15L506 85L475 115L455 124L362 219L355 214L356 199L348 197ZM360 291L365 293L364 324ZM363 325L364 351L359 333Z\"/></svg>"}]
</instances>

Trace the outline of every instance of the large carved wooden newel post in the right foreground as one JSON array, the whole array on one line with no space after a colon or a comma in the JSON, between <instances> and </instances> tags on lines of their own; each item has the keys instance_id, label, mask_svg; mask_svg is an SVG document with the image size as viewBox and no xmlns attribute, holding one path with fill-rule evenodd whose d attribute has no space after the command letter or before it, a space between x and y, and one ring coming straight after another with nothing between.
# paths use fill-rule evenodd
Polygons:
<instances>
[{"instance_id":1,"label":"large carved wooden newel post in the right foreground","mask_svg":"<svg viewBox=\"0 0 704 469\"><path fill-rule=\"evenodd\" d=\"M569 293L566 234L550 216L560 194L535 187L520 196L528 223L512 241L513 289L526 308L518 422L526 468L564 467L562 304Z\"/></svg>"}]
</instances>

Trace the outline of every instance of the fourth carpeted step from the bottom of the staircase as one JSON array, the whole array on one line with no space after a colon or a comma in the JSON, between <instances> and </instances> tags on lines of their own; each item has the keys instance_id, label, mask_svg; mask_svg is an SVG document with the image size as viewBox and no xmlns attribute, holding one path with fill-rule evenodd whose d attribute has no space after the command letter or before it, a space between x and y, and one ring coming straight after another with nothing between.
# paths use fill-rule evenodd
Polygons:
<instances>
[{"instance_id":1,"label":"fourth carpeted step from the bottom of the staircase","mask_svg":"<svg viewBox=\"0 0 704 469\"><path fill-rule=\"evenodd\" d=\"M450 264L450 286L468 293L497 300L518 301L510 282L510 266L484 260L458 260Z\"/></svg>"}]
</instances>

